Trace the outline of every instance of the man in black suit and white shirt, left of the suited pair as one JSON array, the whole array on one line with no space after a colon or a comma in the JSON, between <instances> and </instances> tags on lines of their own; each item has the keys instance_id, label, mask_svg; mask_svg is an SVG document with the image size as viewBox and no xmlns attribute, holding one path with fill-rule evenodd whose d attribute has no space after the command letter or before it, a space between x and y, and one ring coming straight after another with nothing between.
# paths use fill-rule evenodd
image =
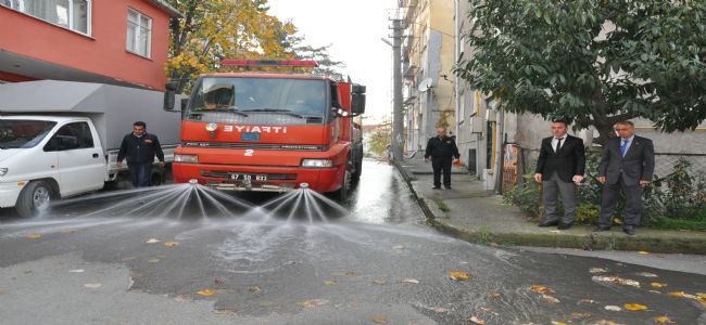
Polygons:
<instances>
[{"instance_id":1,"label":"man in black suit and white shirt, left of the suited pair","mask_svg":"<svg viewBox=\"0 0 706 325\"><path fill-rule=\"evenodd\" d=\"M564 121L552 122L552 134L542 140L534 171L534 181L542 183L546 216L539 226L558 225L557 229L566 230L571 227L576 216L575 183L583 181L585 151L583 140L567 134ZM556 209L558 194L562 194L564 203L564 218L560 222Z\"/></svg>"}]
</instances>

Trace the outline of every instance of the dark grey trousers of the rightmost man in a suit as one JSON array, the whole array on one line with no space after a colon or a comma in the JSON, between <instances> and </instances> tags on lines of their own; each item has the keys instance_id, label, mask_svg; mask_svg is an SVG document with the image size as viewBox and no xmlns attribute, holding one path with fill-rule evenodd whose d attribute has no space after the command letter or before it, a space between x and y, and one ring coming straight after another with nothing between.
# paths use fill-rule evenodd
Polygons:
<instances>
[{"instance_id":1,"label":"dark grey trousers of the rightmost man in a suit","mask_svg":"<svg viewBox=\"0 0 706 325\"><path fill-rule=\"evenodd\" d=\"M598 224L602 226L610 226L613 224L615 206L620 197L620 191L622 191L622 194L626 196L626 208L621 216L622 224L638 226L640 225L640 217L642 214L642 186L640 184L626 185L622 181L622 176L619 176L619 179L615 184L606 183L603 186Z\"/></svg>"}]
</instances>

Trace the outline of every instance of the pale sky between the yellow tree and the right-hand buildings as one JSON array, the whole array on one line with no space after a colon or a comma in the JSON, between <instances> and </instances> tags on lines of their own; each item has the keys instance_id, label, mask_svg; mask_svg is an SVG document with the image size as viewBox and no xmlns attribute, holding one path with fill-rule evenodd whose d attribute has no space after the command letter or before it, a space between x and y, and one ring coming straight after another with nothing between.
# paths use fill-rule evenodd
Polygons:
<instances>
[{"instance_id":1,"label":"pale sky between the yellow tree and the right-hand buildings","mask_svg":"<svg viewBox=\"0 0 706 325\"><path fill-rule=\"evenodd\" d=\"M292 21L312 46L332 44L332 60L342 61L344 75L367 87L365 123L390 115L392 49L380 38L392 34L388 18L395 0L269 0L269 13Z\"/></svg>"}]
</instances>

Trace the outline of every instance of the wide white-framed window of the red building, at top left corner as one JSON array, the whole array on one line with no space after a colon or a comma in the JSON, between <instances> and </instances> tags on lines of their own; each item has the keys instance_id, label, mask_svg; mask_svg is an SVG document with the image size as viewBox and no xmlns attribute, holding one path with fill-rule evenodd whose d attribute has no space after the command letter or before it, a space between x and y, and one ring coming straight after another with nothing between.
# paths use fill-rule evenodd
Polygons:
<instances>
[{"instance_id":1,"label":"wide white-framed window of the red building, at top left corner","mask_svg":"<svg viewBox=\"0 0 706 325\"><path fill-rule=\"evenodd\" d=\"M90 35L91 0L0 0L0 5Z\"/></svg>"}]
</instances>

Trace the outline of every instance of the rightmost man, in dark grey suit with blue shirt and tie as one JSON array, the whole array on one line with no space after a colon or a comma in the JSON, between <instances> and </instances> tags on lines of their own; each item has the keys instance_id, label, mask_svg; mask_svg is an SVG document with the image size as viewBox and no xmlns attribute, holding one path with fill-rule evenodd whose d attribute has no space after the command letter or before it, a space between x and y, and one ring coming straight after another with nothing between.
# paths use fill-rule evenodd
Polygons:
<instances>
[{"instance_id":1,"label":"rightmost man, in dark grey suit with blue shirt and tie","mask_svg":"<svg viewBox=\"0 0 706 325\"><path fill-rule=\"evenodd\" d=\"M650 184L655 171L655 147L652 140L634 135L631 121L616 123L619 136L610 138L603 150L598 165L598 182L604 184L601 217L597 231L607 231L613 225L613 214L618 203L618 193L626 196L622 213L622 231L634 235L642 213L642 186Z\"/></svg>"}]
</instances>

